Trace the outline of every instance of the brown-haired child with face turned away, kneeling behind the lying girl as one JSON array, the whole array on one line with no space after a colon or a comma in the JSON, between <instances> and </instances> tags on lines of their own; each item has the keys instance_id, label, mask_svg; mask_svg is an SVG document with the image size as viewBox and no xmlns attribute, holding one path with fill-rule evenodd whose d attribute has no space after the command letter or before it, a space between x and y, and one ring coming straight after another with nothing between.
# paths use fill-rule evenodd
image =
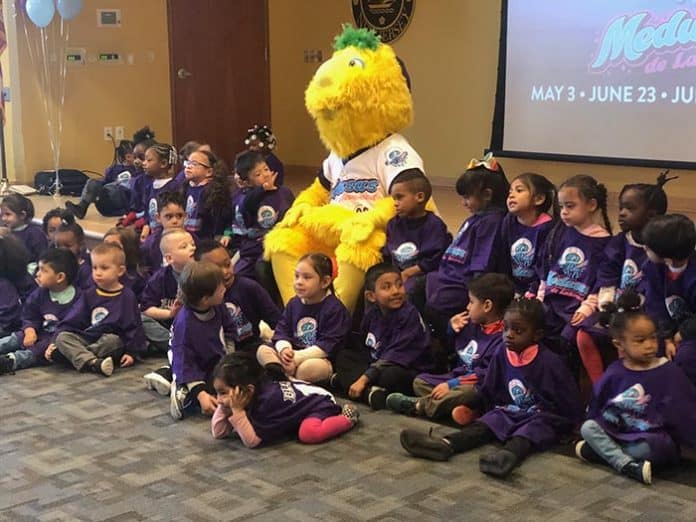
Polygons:
<instances>
[{"instance_id":1,"label":"brown-haired child with face turned away, kneeling behind the lying girl","mask_svg":"<svg viewBox=\"0 0 696 522\"><path fill-rule=\"evenodd\" d=\"M223 304L222 271L193 261L179 278L183 306L174 317L169 360L172 364L169 412L175 420L195 411L212 415L217 408L213 369L225 355L225 337L235 338L234 324Z\"/></svg>"}]
</instances>

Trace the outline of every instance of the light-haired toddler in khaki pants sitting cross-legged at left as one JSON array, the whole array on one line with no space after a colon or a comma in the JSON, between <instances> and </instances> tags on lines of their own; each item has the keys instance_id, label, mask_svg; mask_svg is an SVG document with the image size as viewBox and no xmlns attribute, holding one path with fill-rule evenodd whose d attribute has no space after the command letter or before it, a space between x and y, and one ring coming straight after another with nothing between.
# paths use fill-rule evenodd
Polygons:
<instances>
[{"instance_id":1,"label":"light-haired toddler in khaki pants sitting cross-legged at left","mask_svg":"<svg viewBox=\"0 0 696 522\"><path fill-rule=\"evenodd\" d=\"M135 294L119 281L126 272L123 249L101 243L90 258L94 286L82 292L58 324L59 333L46 358L54 360L60 354L77 371L108 377L114 362L122 368L135 362L135 355L145 349L145 333Z\"/></svg>"}]
</instances>

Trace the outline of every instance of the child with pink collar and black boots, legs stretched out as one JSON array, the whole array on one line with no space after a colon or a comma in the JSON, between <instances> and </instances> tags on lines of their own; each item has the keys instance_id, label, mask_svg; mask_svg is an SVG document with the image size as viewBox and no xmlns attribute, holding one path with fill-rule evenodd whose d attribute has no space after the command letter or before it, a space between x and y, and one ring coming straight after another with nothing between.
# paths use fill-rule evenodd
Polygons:
<instances>
[{"instance_id":1,"label":"child with pink collar and black boots, legs stretched out","mask_svg":"<svg viewBox=\"0 0 696 522\"><path fill-rule=\"evenodd\" d=\"M415 457L449 460L489 442L504 443L479 459L483 473L507 476L532 451L558 442L580 420L582 406L562 359L539 344L544 308L535 299L514 301L505 312L503 339L478 387L489 410L460 431L443 438L416 430L401 432L401 445Z\"/></svg>"}]
</instances>

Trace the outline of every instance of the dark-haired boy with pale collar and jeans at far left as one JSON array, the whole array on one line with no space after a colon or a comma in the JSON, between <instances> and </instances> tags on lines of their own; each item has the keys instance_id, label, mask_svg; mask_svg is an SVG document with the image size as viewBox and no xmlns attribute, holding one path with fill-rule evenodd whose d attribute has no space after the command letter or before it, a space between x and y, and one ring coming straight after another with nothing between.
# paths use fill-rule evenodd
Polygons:
<instances>
[{"instance_id":1,"label":"dark-haired boy with pale collar and jeans at far left","mask_svg":"<svg viewBox=\"0 0 696 522\"><path fill-rule=\"evenodd\" d=\"M77 300L76 274L77 260L69 250L51 248L39 256L39 287L22 307L22 330L0 339L0 375L45 362L58 321Z\"/></svg>"}]
</instances>

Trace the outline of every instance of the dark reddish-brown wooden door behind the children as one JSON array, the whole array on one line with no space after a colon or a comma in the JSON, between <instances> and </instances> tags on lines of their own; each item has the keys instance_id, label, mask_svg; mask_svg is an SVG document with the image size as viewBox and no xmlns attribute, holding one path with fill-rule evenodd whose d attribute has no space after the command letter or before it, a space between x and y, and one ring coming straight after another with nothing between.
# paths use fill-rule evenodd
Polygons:
<instances>
[{"instance_id":1,"label":"dark reddish-brown wooden door behind the children","mask_svg":"<svg viewBox=\"0 0 696 522\"><path fill-rule=\"evenodd\" d=\"M174 145L209 143L231 166L270 124L267 0L168 0Z\"/></svg>"}]
</instances>

